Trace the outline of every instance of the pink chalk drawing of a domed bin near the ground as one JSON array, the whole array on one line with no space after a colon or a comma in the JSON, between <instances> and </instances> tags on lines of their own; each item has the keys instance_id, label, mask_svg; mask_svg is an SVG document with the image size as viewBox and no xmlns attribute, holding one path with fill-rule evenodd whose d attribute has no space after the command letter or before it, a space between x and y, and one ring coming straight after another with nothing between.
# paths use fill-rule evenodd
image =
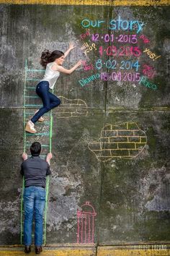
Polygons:
<instances>
[{"instance_id":1,"label":"pink chalk drawing of a domed bin near the ground","mask_svg":"<svg viewBox=\"0 0 170 256\"><path fill-rule=\"evenodd\" d=\"M94 217L97 213L90 202L81 205L77 210L77 243L94 244Z\"/></svg>"}]
</instances>

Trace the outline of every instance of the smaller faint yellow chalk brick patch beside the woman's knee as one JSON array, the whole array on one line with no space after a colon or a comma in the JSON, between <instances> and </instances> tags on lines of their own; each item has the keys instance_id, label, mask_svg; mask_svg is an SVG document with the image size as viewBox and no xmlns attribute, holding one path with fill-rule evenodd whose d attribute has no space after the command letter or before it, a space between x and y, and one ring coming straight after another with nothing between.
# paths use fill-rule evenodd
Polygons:
<instances>
[{"instance_id":1,"label":"smaller faint yellow chalk brick patch beside the woman's knee","mask_svg":"<svg viewBox=\"0 0 170 256\"><path fill-rule=\"evenodd\" d=\"M86 116L88 114L86 102L81 99L70 100L63 96L59 96L61 105L58 106L60 111L57 112L58 118L71 118Z\"/></svg>"}]
</instances>

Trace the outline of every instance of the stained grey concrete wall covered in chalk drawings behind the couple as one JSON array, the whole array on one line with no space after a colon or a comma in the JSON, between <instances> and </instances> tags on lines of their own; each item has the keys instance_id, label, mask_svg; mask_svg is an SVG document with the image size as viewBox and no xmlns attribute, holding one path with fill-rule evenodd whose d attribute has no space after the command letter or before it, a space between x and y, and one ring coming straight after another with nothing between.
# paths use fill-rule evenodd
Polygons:
<instances>
[{"instance_id":1,"label":"stained grey concrete wall covered in chalk drawings behind the couple","mask_svg":"<svg viewBox=\"0 0 170 256\"><path fill-rule=\"evenodd\" d=\"M19 166L35 140L53 153L45 244L169 242L169 10L1 3L1 245L22 242ZM70 41L64 67L89 67L61 74L61 106L28 135L40 54Z\"/></svg>"}]
</instances>

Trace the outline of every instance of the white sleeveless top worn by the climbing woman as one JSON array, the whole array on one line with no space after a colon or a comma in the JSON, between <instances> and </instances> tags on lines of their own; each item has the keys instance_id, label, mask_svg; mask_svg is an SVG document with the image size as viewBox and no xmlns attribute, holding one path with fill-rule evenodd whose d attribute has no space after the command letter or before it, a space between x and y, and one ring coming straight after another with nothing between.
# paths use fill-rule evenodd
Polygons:
<instances>
[{"instance_id":1,"label":"white sleeveless top worn by the climbing woman","mask_svg":"<svg viewBox=\"0 0 170 256\"><path fill-rule=\"evenodd\" d=\"M58 80L58 77L60 75L59 71L51 69L53 64L54 62L50 62L47 64L47 67L45 69L45 75L42 80L40 80L40 82L48 81L50 89L54 88L55 82Z\"/></svg>"}]
</instances>

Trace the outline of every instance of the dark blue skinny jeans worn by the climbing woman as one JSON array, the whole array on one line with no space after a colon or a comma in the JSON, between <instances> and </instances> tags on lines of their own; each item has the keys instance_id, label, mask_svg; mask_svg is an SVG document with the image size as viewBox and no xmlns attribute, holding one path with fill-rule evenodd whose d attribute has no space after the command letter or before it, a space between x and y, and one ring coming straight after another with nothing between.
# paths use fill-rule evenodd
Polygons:
<instances>
[{"instance_id":1,"label":"dark blue skinny jeans worn by the climbing woman","mask_svg":"<svg viewBox=\"0 0 170 256\"><path fill-rule=\"evenodd\" d=\"M50 109L55 108L60 105L61 100L57 98L53 93L49 92L49 82L42 81L37 84L36 88L37 95L42 99L43 106L37 111L37 113L32 117L31 121L35 124L35 122L48 112Z\"/></svg>"}]
</instances>

